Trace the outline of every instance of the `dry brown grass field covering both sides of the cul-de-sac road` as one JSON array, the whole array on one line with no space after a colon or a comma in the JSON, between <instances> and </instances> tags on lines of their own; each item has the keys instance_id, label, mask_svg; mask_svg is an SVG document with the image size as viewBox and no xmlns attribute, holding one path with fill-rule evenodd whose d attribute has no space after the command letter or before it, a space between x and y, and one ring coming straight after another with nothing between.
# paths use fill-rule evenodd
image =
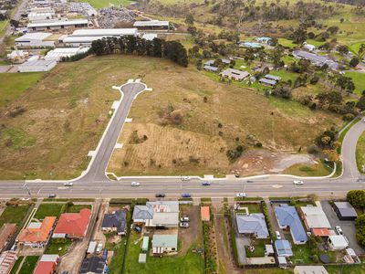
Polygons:
<instances>
[{"instance_id":1,"label":"dry brown grass field covering both sides of the cul-de-sac road","mask_svg":"<svg viewBox=\"0 0 365 274\"><path fill-rule=\"evenodd\" d=\"M339 123L334 115L312 112L295 102L267 100L167 60L87 58L59 64L0 109L1 178L77 176L105 129L112 100L119 98L110 87L130 78L141 78L153 91L133 103L133 122L120 137L125 146L110 163L117 174L223 174L231 165L227 149L262 142L266 148L296 151ZM10 118L7 111L17 106L26 111ZM175 113L183 120L171 119ZM148 140L129 144L135 130L141 136L145 132Z\"/></svg>"}]
</instances>

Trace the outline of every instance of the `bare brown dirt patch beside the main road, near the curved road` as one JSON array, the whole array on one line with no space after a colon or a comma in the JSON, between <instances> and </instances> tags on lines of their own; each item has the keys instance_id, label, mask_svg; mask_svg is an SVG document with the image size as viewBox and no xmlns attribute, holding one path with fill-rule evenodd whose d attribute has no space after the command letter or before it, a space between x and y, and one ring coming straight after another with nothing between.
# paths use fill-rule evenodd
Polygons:
<instances>
[{"instance_id":1,"label":"bare brown dirt patch beside the main road, near the curved road","mask_svg":"<svg viewBox=\"0 0 365 274\"><path fill-rule=\"evenodd\" d=\"M277 174L297 163L317 163L308 154L272 153L268 151L251 151L245 153L230 170L231 174Z\"/></svg>"}]
</instances>

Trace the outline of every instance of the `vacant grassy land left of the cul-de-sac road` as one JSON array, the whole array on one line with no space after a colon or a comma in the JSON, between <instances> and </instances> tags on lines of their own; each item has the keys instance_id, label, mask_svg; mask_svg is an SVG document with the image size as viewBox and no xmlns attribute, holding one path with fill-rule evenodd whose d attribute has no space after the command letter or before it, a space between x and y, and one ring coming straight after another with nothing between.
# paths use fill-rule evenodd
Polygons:
<instances>
[{"instance_id":1,"label":"vacant grassy land left of the cul-de-sac road","mask_svg":"<svg viewBox=\"0 0 365 274\"><path fill-rule=\"evenodd\" d=\"M118 61L112 58L58 64L25 92L41 75L30 80L33 74L22 74L23 90L16 91L21 94L7 106L0 105L0 178L78 176L109 121L112 101L120 98L111 86L129 79L128 73L117 73L116 68ZM5 85L0 82L5 101L18 82L16 78L6 79Z\"/></svg>"}]
</instances>

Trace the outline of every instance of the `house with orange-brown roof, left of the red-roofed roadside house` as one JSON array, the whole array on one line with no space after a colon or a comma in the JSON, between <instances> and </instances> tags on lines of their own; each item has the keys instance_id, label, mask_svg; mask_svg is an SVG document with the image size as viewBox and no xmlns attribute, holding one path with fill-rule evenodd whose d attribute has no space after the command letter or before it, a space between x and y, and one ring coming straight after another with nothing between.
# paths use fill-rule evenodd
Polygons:
<instances>
[{"instance_id":1,"label":"house with orange-brown roof, left of the red-roofed roadside house","mask_svg":"<svg viewBox=\"0 0 365 274\"><path fill-rule=\"evenodd\" d=\"M45 217L42 223L30 223L28 227L20 231L16 241L26 247L43 248L47 244L55 223L55 216Z\"/></svg>"}]
</instances>

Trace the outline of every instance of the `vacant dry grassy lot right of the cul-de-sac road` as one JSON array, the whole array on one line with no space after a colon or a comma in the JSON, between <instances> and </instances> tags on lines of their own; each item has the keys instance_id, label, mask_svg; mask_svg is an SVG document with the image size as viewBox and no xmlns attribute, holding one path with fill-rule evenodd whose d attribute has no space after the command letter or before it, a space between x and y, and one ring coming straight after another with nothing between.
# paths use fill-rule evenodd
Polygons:
<instances>
[{"instance_id":1,"label":"vacant dry grassy lot right of the cul-de-sac road","mask_svg":"<svg viewBox=\"0 0 365 274\"><path fill-rule=\"evenodd\" d=\"M267 99L194 68L155 58L118 60L131 76L140 74L153 88L134 101L133 121L120 135L124 146L111 158L109 171L119 175L226 174L232 167L226 152L238 145L261 142L275 151L297 151L340 123L332 114Z\"/></svg>"}]
</instances>

